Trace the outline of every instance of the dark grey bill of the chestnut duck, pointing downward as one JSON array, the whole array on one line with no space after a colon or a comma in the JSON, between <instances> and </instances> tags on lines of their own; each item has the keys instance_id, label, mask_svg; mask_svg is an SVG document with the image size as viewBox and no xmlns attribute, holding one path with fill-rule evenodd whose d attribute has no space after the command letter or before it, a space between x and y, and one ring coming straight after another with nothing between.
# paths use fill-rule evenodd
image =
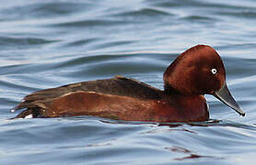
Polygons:
<instances>
[{"instance_id":1,"label":"dark grey bill of the chestnut duck, pointing downward","mask_svg":"<svg viewBox=\"0 0 256 165\"><path fill-rule=\"evenodd\" d=\"M245 115L245 113L241 110L239 104L235 101L235 99L233 98L233 96L229 92L226 83L222 86L222 88L219 91L214 92L213 95L218 100L220 100L224 104L227 104L227 106L229 106L232 109L234 109L237 113L239 113L239 115L242 115L242 116Z\"/></svg>"}]
</instances>

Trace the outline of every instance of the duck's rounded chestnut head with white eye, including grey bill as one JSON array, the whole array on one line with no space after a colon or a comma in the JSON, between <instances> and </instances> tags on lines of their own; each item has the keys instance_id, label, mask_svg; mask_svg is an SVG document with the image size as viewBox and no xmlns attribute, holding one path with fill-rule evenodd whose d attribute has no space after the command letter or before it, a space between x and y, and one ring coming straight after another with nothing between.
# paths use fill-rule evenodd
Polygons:
<instances>
[{"instance_id":1,"label":"duck's rounded chestnut head with white eye, including grey bill","mask_svg":"<svg viewBox=\"0 0 256 165\"><path fill-rule=\"evenodd\" d=\"M197 45L181 53L163 79L167 93L212 94L239 115L245 115L227 88L223 61L210 46Z\"/></svg>"}]
</instances>

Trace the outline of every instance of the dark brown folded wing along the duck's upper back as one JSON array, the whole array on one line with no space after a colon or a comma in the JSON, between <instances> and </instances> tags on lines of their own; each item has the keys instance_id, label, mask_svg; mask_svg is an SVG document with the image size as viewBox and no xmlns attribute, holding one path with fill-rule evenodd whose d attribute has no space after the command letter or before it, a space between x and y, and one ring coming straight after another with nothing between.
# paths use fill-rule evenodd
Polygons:
<instances>
[{"instance_id":1,"label":"dark brown folded wing along the duck's upper back","mask_svg":"<svg viewBox=\"0 0 256 165\"><path fill-rule=\"evenodd\" d=\"M77 82L67 84L57 88L45 89L30 93L25 96L21 103L12 110L15 112L18 109L24 108L41 108L47 109L52 104L52 101L66 94L76 92L95 92L103 94L112 94L120 96L129 96L136 99L158 99L162 91L154 88L144 82L138 82L134 79L128 79L121 76L116 76L112 79Z\"/></svg>"}]
</instances>

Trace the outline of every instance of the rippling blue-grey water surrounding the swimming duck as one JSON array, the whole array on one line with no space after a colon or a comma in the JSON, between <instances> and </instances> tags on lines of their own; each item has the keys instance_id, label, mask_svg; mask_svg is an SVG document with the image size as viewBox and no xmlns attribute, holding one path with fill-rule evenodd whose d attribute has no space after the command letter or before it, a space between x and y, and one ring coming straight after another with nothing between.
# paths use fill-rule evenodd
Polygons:
<instances>
[{"instance_id":1,"label":"rippling blue-grey water surrounding the swimming duck","mask_svg":"<svg viewBox=\"0 0 256 165\"><path fill-rule=\"evenodd\" d=\"M255 164L255 17L253 0L2 1L0 164ZM66 83L122 75L162 89L169 63L196 44L222 56L245 117L206 96L211 120L178 126L7 120L26 94Z\"/></svg>"}]
</instances>

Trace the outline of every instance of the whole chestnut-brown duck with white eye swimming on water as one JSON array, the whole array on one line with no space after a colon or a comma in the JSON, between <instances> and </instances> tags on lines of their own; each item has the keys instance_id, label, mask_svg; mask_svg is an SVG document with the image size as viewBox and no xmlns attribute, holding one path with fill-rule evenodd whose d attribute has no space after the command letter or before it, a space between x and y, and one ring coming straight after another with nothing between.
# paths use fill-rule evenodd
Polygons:
<instances>
[{"instance_id":1,"label":"whole chestnut-brown duck with white eye swimming on water","mask_svg":"<svg viewBox=\"0 0 256 165\"><path fill-rule=\"evenodd\" d=\"M215 49L197 45L182 52L164 72L164 90L134 79L77 82L30 93L12 110L14 118L94 115L154 122L209 119L204 94L212 94L245 115L227 89L223 61Z\"/></svg>"}]
</instances>

